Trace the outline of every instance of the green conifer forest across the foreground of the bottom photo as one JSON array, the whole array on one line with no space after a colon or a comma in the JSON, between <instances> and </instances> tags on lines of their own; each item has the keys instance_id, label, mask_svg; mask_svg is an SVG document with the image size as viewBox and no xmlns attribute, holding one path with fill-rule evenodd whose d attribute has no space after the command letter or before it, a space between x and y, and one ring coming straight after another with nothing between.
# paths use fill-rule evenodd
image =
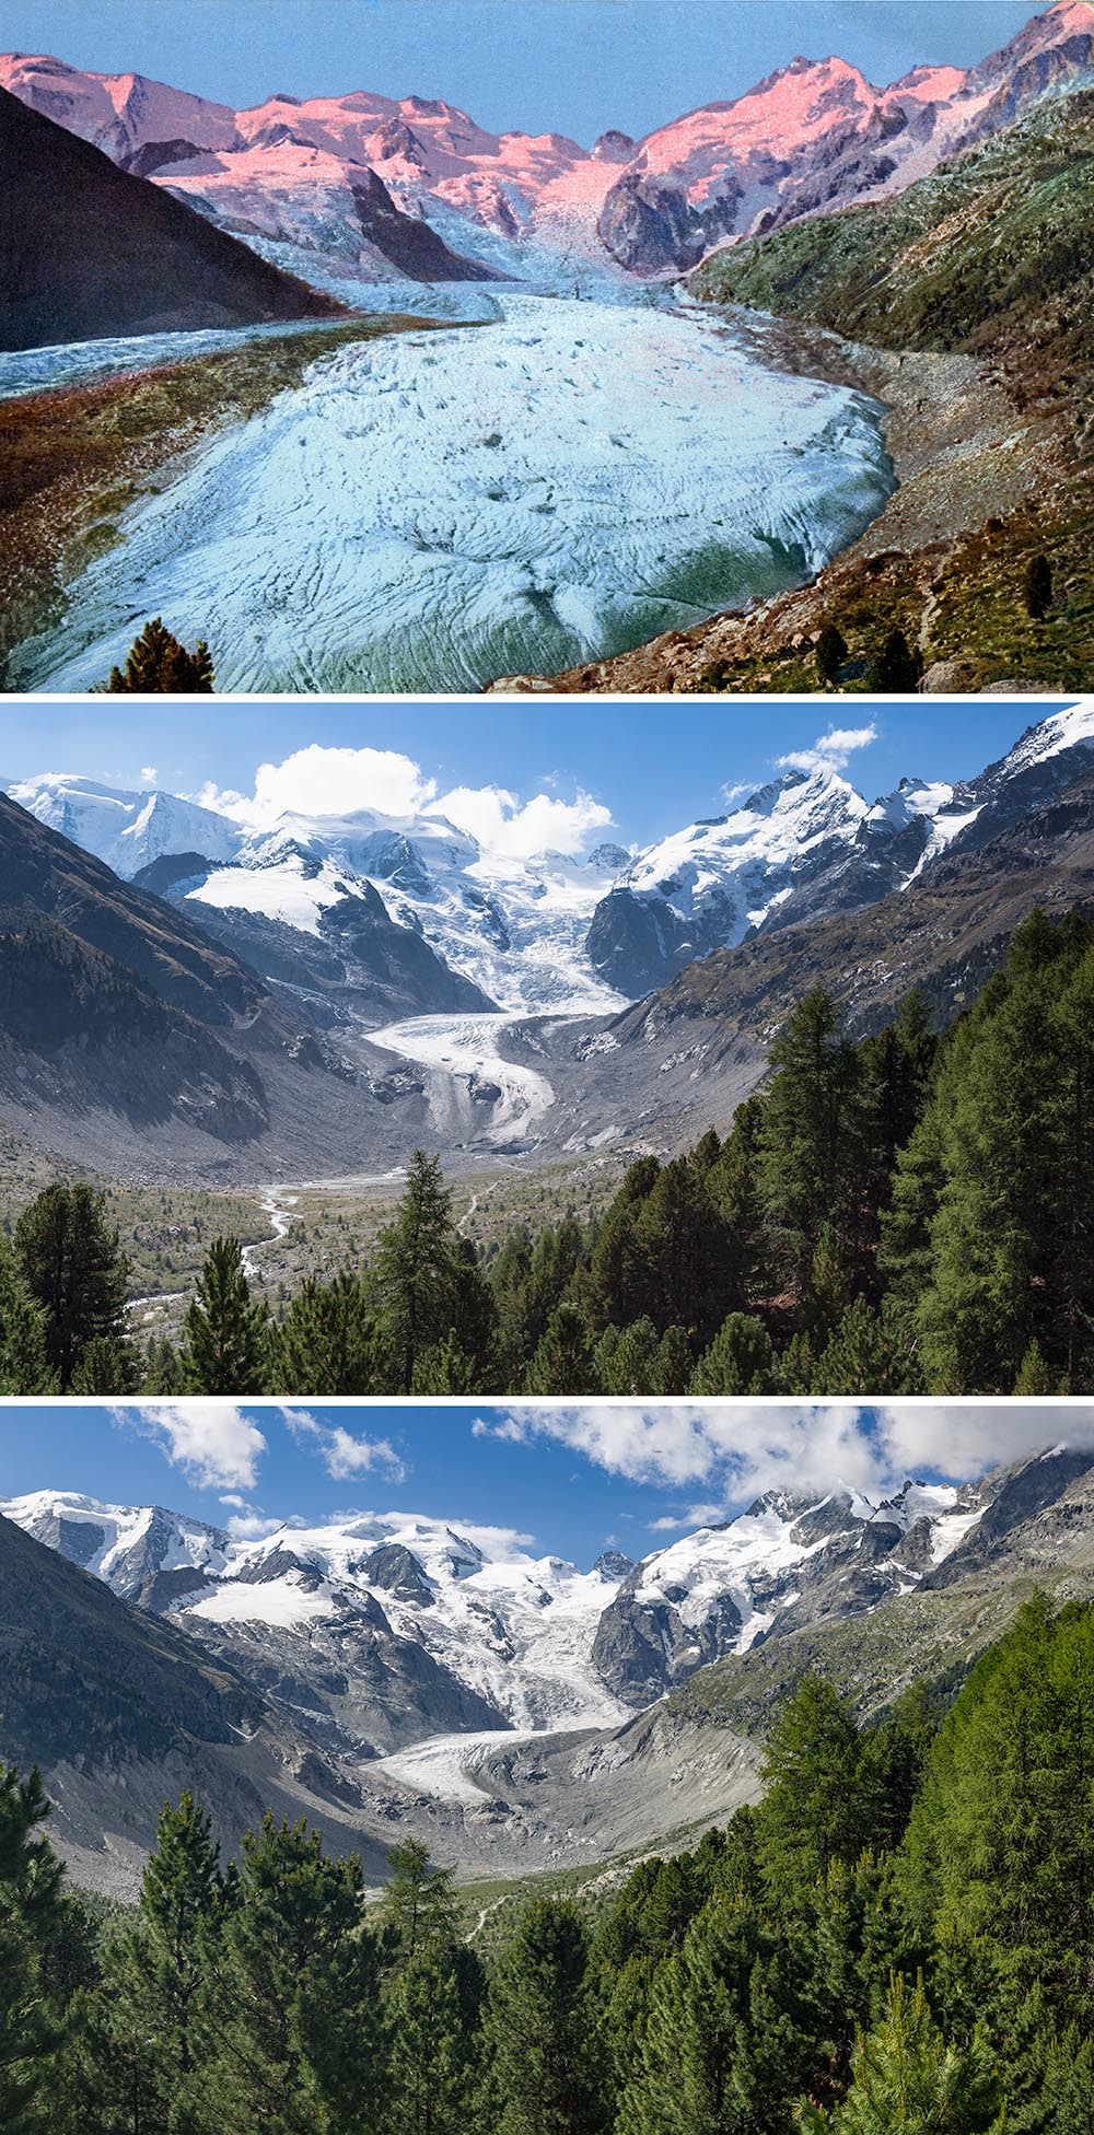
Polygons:
<instances>
[{"instance_id":1,"label":"green conifer forest across the foreground of the bottom photo","mask_svg":"<svg viewBox=\"0 0 1094 2135\"><path fill-rule=\"evenodd\" d=\"M303 1821L224 1860L188 1793L139 1902L85 1900L0 1768L0 2126L1090 2135L1092 1687L1094 1612L1041 1595L949 1710L803 1676L759 1806L483 1949L419 1840L376 1898Z\"/></svg>"}]
</instances>

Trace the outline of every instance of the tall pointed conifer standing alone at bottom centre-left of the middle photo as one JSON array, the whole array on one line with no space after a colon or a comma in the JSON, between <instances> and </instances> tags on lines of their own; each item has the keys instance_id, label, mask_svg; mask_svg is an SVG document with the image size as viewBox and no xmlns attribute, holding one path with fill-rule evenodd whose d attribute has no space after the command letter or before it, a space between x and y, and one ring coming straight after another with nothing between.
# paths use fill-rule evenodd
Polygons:
<instances>
[{"instance_id":1,"label":"tall pointed conifer standing alone at bottom centre-left of the middle photo","mask_svg":"<svg viewBox=\"0 0 1094 2135\"><path fill-rule=\"evenodd\" d=\"M457 1232L451 1193L438 1159L417 1149L395 1221L380 1232L376 1253L382 1339L402 1394L412 1390L419 1356L444 1341L453 1326L455 1294Z\"/></svg>"}]
</instances>

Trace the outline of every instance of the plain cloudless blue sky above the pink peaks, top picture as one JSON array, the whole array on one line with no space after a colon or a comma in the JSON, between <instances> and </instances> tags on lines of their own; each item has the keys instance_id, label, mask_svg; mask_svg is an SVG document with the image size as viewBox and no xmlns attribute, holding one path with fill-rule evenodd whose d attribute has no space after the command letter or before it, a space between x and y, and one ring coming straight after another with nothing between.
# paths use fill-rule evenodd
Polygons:
<instances>
[{"instance_id":1,"label":"plain cloudless blue sky above the pink peaks, top picture","mask_svg":"<svg viewBox=\"0 0 1094 2135\"><path fill-rule=\"evenodd\" d=\"M239 107L278 90L444 96L496 132L643 135L795 53L878 85L968 66L1045 0L6 0L4 47Z\"/></svg>"}]
</instances>

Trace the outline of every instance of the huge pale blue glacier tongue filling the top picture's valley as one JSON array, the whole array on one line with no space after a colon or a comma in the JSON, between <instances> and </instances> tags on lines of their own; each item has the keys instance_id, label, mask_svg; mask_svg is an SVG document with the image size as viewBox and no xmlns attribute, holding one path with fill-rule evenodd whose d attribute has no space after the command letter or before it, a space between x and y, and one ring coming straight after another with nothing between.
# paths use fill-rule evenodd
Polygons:
<instances>
[{"instance_id":1,"label":"huge pale blue glacier tongue filling the top picture's valley","mask_svg":"<svg viewBox=\"0 0 1094 2135\"><path fill-rule=\"evenodd\" d=\"M893 487L882 410L767 369L754 320L491 305L318 359L132 508L11 683L83 690L150 615L220 692L549 675L801 583Z\"/></svg>"}]
</instances>

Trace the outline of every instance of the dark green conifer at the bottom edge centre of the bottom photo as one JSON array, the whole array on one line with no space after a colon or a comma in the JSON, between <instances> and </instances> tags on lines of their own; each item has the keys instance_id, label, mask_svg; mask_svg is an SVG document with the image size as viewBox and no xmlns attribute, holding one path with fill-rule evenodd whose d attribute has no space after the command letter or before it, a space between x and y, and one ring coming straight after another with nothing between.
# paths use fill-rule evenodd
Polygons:
<instances>
[{"instance_id":1,"label":"dark green conifer at the bottom edge centre of the bottom photo","mask_svg":"<svg viewBox=\"0 0 1094 2135\"><path fill-rule=\"evenodd\" d=\"M485 2114L496 2135L605 2129L581 1913L530 1904L502 1949L485 2005Z\"/></svg>"}]
</instances>

